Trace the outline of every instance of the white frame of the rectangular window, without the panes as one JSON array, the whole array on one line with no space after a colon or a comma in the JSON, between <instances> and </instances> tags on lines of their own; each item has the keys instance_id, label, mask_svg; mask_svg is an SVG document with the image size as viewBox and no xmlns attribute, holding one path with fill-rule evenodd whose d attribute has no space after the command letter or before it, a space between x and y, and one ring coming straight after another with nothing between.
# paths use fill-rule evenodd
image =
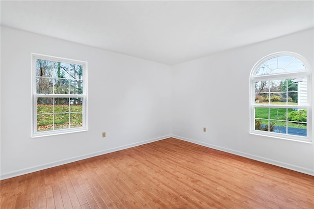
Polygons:
<instances>
[{"instance_id":1,"label":"white frame of the rectangular window, without the panes","mask_svg":"<svg viewBox=\"0 0 314 209\"><path fill-rule=\"evenodd\" d=\"M62 57L43 55L38 53L31 53L32 56L32 137L42 137L50 135L58 135L65 133L73 133L80 131L87 131L87 62L74 59L67 59ZM62 62L69 64L77 64L83 66L82 75L82 94L38 94L36 92L36 59ZM37 98L52 97L52 98L83 98L82 102L82 127L60 129L52 131L37 131ZM54 114L54 113L53 113Z\"/></svg>"}]
</instances>

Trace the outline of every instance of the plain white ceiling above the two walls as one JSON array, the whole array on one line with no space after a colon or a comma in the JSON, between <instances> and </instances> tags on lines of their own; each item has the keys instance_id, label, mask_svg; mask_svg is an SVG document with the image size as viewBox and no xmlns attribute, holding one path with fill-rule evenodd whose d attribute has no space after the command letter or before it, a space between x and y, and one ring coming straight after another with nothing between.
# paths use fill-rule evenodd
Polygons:
<instances>
[{"instance_id":1,"label":"plain white ceiling above the two walls","mask_svg":"<svg viewBox=\"0 0 314 209\"><path fill-rule=\"evenodd\" d=\"M314 1L4 1L1 25L164 64L314 27Z\"/></svg>"}]
</instances>

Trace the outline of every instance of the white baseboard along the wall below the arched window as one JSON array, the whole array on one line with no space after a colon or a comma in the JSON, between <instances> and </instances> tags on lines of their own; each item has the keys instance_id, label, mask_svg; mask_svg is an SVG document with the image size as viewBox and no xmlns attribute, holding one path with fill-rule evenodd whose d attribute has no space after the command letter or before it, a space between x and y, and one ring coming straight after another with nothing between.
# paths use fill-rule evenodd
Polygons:
<instances>
[{"instance_id":1,"label":"white baseboard along the wall below the arched window","mask_svg":"<svg viewBox=\"0 0 314 209\"><path fill-rule=\"evenodd\" d=\"M231 154L234 154L234 155L237 155L237 156L246 157L246 158L249 158L249 159L254 159L254 160L257 160L257 161L260 161L260 162L265 162L265 163L268 163L268 164L271 164L271 165L276 165L276 166L279 166L279 167L287 168L289 170L293 170L293 171L297 171L297 172L301 172L301 173L304 173L304 174L308 174L308 175L314 176L314 170L311 170L311 169L308 169L308 168L300 167L300 166L297 166L297 165L292 165L292 164L289 164L289 163L286 163L286 162L280 162L280 161L269 159L269 158L265 158L265 157L255 156L255 155L239 152L239 151L228 149L228 148L224 148L224 147L219 147L219 146L216 146L216 145L212 145L212 144L209 144L209 143L196 141L196 140L185 138L185 137L182 137L182 136L172 135L171 137L177 138L177 139L180 139L180 140L183 140L183 141L191 142L191 143L194 143L194 144L202 145L202 146L205 146L205 147L209 147L209 148L212 148L212 149L215 149L215 150L220 150L220 151L223 151L223 152L226 152L226 153L231 153Z\"/></svg>"}]
</instances>

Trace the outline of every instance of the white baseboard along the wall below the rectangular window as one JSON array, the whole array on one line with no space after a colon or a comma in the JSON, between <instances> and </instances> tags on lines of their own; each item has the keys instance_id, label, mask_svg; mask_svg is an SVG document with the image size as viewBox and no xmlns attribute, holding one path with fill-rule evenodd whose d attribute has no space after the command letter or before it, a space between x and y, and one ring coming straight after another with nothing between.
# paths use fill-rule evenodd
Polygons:
<instances>
[{"instance_id":1,"label":"white baseboard along the wall below the rectangular window","mask_svg":"<svg viewBox=\"0 0 314 209\"><path fill-rule=\"evenodd\" d=\"M63 159L63 160L59 160L59 161L55 161L55 162L50 162L50 163L46 163L46 164L42 164L42 165L38 165L38 166L34 166L34 167L29 167L29 168L25 168L25 169L13 171L13 172L4 173L4 174L1 174L0 180L9 179L9 178L16 177L16 176L21 176L21 175L24 175L24 174L28 174L28 173L44 170L44 169L47 169L47 168L52 168L52 167L59 166L59 165L64 165L64 164L67 164L67 163L75 162L75 161L82 160L82 159L87 159L87 158L90 158L90 157L96 157L96 156L100 156L100 155L116 152L116 151L119 151L119 150L128 149L128 148L131 148L131 147L136 147L136 146L139 146L139 145L143 145L143 144L159 141L159 140L166 139L166 138L169 138L169 137L171 137L171 135L161 136L161 137L157 137L157 138L154 138L154 139L149 139L149 140L145 140L145 141L136 142L136 143L133 143L133 144L128 144L128 145L124 145L124 146L120 146L120 147L115 147L115 148L111 148L111 149L107 149L107 150L102 150L102 151L95 152L95 153L90 153L90 154L86 154L86 155L82 155L82 156L78 156L78 157L71 157L71 158L67 158L67 159Z\"/></svg>"}]
</instances>

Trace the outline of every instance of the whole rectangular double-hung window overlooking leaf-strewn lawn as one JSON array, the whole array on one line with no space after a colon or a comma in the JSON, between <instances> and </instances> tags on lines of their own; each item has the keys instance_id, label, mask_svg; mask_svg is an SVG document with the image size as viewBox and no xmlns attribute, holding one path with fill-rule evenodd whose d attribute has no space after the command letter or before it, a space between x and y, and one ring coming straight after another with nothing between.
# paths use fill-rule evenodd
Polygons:
<instances>
[{"instance_id":1,"label":"whole rectangular double-hung window overlooking leaf-strewn lawn","mask_svg":"<svg viewBox=\"0 0 314 209\"><path fill-rule=\"evenodd\" d=\"M87 130L87 62L32 54L32 136Z\"/></svg>"}]
</instances>

